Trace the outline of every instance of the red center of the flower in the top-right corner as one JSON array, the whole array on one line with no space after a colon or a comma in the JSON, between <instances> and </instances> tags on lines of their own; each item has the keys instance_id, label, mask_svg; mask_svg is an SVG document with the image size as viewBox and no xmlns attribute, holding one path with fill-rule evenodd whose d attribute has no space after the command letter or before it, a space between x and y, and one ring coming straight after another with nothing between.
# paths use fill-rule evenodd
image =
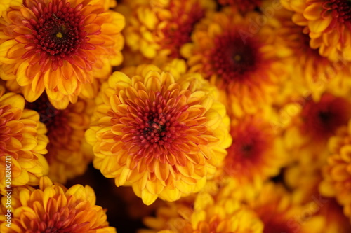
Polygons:
<instances>
[{"instance_id":1,"label":"red center of the flower in the top-right corner","mask_svg":"<svg viewBox=\"0 0 351 233\"><path fill-rule=\"evenodd\" d=\"M333 20L326 31L335 29L337 23L345 24L351 29L351 1L350 0L330 0L323 3L322 17L331 15Z\"/></svg>"}]
</instances>

